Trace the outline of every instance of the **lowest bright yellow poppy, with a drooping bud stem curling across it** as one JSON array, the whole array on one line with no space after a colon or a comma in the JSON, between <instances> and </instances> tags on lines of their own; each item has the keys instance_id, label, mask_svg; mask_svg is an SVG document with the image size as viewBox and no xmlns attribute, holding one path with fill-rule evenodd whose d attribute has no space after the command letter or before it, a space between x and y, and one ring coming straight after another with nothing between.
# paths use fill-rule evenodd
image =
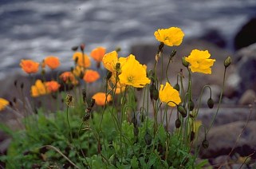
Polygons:
<instances>
[{"instance_id":1,"label":"lowest bright yellow poppy, with a drooping bud stem curling across it","mask_svg":"<svg viewBox=\"0 0 256 169\"><path fill-rule=\"evenodd\" d=\"M173 88L168 82L166 82L164 87L163 85L160 85L159 96L162 102L167 103L171 107L175 107L176 104L181 102L179 92L175 90L175 88Z\"/></svg>"}]
</instances>

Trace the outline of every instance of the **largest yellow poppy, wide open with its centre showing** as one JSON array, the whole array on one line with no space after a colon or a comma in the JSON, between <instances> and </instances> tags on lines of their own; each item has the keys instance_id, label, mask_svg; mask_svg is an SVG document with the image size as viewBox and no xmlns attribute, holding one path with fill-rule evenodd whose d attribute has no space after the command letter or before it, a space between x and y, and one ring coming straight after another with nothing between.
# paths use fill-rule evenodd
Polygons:
<instances>
[{"instance_id":1,"label":"largest yellow poppy, wide open with its centre showing","mask_svg":"<svg viewBox=\"0 0 256 169\"><path fill-rule=\"evenodd\" d=\"M150 84L145 66L136 61L132 54L127 58L121 70L122 73L119 75L121 84L132 85L136 88L144 88L145 85Z\"/></svg>"}]
</instances>

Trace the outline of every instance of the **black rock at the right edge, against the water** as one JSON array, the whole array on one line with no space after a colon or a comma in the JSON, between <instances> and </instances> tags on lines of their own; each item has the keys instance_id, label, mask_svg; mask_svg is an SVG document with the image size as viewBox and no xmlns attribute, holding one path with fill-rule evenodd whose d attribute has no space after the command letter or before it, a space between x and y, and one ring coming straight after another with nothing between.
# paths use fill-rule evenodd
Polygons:
<instances>
[{"instance_id":1,"label":"black rock at the right edge, against the water","mask_svg":"<svg viewBox=\"0 0 256 169\"><path fill-rule=\"evenodd\" d=\"M250 18L234 37L234 49L241 49L256 42L256 18Z\"/></svg>"}]
</instances>

